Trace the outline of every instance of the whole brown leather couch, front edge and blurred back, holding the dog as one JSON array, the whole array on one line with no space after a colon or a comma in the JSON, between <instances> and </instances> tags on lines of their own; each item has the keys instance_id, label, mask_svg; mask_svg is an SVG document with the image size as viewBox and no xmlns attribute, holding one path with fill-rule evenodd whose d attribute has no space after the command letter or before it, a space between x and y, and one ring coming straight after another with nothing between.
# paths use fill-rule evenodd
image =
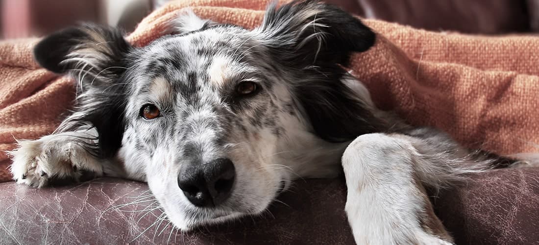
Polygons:
<instances>
[{"instance_id":1,"label":"whole brown leather couch, front edge and blurred back, holding the dog","mask_svg":"<svg viewBox=\"0 0 539 245\"><path fill-rule=\"evenodd\" d=\"M539 27L536 0L330 2L365 17L430 30L495 34ZM100 178L37 190L7 182L0 183L0 190L0 244L354 243L342 178L296 181L265 214L189 233L177 232L162 219L144 183ZM539 169L474 175L432 196L457 244L539 241Z\"/></svg>"}]
</instances>

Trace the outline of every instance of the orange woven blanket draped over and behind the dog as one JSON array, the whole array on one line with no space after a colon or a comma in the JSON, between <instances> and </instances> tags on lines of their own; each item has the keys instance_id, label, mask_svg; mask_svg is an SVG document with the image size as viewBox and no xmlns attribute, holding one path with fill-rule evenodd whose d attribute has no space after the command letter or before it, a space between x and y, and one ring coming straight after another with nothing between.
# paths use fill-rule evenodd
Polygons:
<instances>
[{"instance_id":1,"label":"orange woven blanket draped over and behind the dog","mask_svg":"<svg viewBox=\"0 0 539 245\"><path fill-rule=\"evenodd\" d=\"M202 18L253 28L265 0L171 2L145 18L127 39L143 46L159 37L187 6ZM447 131L469 148L500 154L537 152L539 37L482 37L416 30L364 20L378 33L374 47L353 56L350 69L382 109L413 125ZM50 134L72 106L74 82L37 67L37 39L0 43L0 181L15 139Z\"/></svg>"}]
</instances>

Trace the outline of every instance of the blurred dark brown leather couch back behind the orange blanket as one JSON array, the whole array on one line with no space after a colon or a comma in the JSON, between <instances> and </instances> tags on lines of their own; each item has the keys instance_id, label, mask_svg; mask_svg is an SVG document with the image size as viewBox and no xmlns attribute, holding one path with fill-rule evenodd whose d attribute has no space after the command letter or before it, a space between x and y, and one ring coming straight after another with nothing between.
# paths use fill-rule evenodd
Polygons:
<instances>
[{"instance_id":1,"label":"blurred dark brown leather couch back behind the orange blanket","mask_svg":"<svg viewBox=\"0 0 539 245\"><path fill-rule=\"evenodd\" d=\"M432 31L499 34L539 31L539 1L327 0L365 18Z\"/></svg>"}]
</instances>

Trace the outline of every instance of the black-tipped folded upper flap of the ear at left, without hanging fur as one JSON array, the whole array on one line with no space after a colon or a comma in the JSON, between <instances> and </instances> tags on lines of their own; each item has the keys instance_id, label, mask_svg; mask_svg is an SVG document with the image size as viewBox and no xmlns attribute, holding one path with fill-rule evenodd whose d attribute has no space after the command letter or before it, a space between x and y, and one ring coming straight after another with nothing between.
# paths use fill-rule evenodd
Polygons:
<instances>
[{"instance_id":1,"label":"black-tipped folded upper flap of the ear at left, without hanging fur","mask_svg":"<svg viewBox=\"0 0 539 245\"><path fill-rule=\"evenodd\" d=\"M125 71L126 54L132 46L122 34L118 29L100 25L70 27L39 41L34 47L34 58L49 71L81 74L81 78L85 75L99 86L99 82L114 79ZM85 85L84 81L79 82Z\"/></svg>"}]
</instances>

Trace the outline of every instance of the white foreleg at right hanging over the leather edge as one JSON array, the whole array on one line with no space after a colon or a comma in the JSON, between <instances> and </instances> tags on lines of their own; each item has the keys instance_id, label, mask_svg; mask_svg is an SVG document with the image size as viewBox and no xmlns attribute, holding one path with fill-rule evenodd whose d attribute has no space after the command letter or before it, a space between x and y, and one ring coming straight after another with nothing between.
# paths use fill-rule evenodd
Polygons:
<instances>
[{"instance_id":1,"label":"white foreleg at right hanging over the leather edge","mask_svg":"<svg viewBox=\"0 0 539 245\"><path fill-rule=\"evenodd\" d=\"M345 211L357 244L452 244L414 173L421 155L405 137L368 134L345 150Z\"/></svg>"}]
</instances>

